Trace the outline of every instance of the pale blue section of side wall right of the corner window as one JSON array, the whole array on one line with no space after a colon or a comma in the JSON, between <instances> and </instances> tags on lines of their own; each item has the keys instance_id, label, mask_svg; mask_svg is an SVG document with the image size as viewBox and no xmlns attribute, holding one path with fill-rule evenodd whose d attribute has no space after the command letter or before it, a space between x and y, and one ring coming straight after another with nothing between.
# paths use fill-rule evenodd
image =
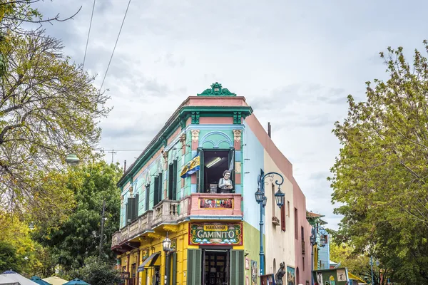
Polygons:
<instances>
[{"instance_id":1,"label":"pale blue section of side wall right of the corner window","mask_svg":"<svg viewBox=\"0 0 428 285\"><path fill-rule=\"evenodd\" d=\"M264 149L253 131L244 123L243 131L243 197L244 220L256 229L260 222L260 205L255 201L257 178L260 169L264 170Z\"/></svg>"}]
</instances>

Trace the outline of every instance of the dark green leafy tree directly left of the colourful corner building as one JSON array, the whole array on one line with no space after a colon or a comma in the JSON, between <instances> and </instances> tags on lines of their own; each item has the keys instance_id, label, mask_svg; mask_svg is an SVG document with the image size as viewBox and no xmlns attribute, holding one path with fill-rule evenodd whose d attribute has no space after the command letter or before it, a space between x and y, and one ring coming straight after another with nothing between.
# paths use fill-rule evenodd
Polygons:
<instances>
[{"instance_id":1,"label":"dark green leafy tree directly left of the colourful corner building","mask_svg":"<svg viewBox=\"0 0 428 285\"><path fill-rule=\"evenodd\" d=\"M76 199L76 207L57 229L36 229L36 240L51 249L54 259L64 269L83 266L86 257L98 256L101 213L106 201L106 221L103 230L103 258L114 261L111 236L118 229L120 190L116 182L122 175L118 165L104 161L75 167L68 172L68 189Z\"/></svg>"}]
</instances>

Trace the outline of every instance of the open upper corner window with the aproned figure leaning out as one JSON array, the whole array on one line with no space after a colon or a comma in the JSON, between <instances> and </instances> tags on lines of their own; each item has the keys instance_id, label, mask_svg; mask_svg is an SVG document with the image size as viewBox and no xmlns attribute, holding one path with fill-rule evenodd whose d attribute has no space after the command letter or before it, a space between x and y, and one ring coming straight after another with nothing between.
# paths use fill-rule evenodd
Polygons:
<instances>
[{"instance_id":1,"label":"open upper corner window with the aproned figure leaning out","mask_svg":"<svg viewBox=\"0 0 428 285\"><path fill-rule=\"evenodd\" d=\"M198 192L233 193L235 192L235 150L203 150L200 155L200 170L198 171ZM223 172L230 170L231 188L220 187ZM223 182L223 181L222 181ZM229 182L226 183L228 186Z\"/></svg>"}]
</instances>

